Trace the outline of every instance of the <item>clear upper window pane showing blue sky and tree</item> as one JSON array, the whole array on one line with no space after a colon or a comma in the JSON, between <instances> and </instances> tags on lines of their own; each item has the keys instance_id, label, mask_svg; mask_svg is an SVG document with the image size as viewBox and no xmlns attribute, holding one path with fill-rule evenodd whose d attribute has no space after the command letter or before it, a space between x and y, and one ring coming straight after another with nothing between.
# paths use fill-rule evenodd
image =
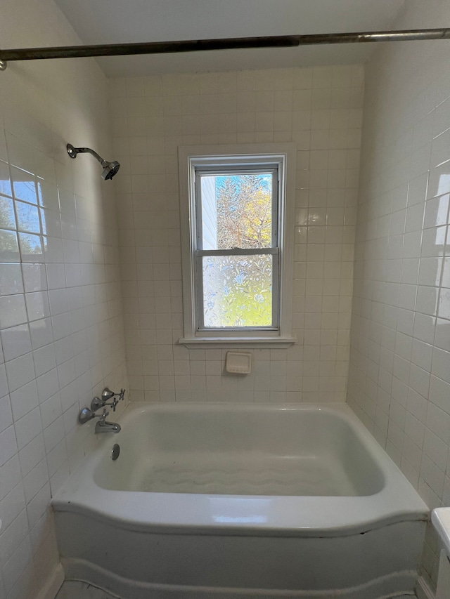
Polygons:
<instances>
[{"instance_id":1,"label":"clear upper window pane showing blue sky and tree","mask_svg":"<svg viewBox=\"0 0 450 599\"><path fill-rule=\"evenodd\" d=\"M271 247L272 173L202 176L203 249Z\"/></svg>"}]
</instances>

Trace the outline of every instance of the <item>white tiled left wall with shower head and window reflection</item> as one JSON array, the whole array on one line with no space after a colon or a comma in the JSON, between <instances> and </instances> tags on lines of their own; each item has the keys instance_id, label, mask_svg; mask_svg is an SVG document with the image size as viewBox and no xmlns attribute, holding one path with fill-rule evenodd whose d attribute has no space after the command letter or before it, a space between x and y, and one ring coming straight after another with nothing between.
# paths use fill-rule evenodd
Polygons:
<instances>
[{"instance_id":1,"label":"white tiled left wall with shower head and window reflection","mask_svg":"<svg viewBox=\"0 0 450 599\"><path fill-rule=\"evenodd\" d=\"M2 46L79 44L51 0L3 2ZM90 60L0 74L0 598L35 599L58 562L51 494L95 442L80 407L127 386L108 85Z\"/></svg>"}]
</instances>

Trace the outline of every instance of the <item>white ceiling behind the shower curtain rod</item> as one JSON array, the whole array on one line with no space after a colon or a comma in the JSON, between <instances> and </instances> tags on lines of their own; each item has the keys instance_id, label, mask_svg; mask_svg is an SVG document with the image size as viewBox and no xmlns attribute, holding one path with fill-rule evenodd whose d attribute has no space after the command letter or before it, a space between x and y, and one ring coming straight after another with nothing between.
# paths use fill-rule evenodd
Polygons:
<instances>
[{"instance_id":1,"label":"white ceiling behind the shower curtain rod","mask_svg":"<svg viewBox=\"0 0 450 599\"><path fill-rule=\"evenodd\" d=\"M390 29L405 0L55 0L84 44ZM108 77L365 62L376 44L98 58Z\"/></svg>"}]
</instances>

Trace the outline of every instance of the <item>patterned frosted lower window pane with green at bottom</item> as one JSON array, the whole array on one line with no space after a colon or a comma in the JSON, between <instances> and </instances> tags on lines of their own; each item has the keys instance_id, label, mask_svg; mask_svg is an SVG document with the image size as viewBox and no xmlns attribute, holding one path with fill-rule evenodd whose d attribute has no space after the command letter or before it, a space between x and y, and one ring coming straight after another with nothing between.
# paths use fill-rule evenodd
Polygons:
<instances>
[{"instance_id":1,"label":"patterned frosted lower window pane with green at bottom","mask_svg":"<svg viewBox=\"0 0 450 599\"><path fill-rule=\"evenodd\" d=\"M273 256L203 256L205 327L271 327Z\"/></svg>"}]
</instances>

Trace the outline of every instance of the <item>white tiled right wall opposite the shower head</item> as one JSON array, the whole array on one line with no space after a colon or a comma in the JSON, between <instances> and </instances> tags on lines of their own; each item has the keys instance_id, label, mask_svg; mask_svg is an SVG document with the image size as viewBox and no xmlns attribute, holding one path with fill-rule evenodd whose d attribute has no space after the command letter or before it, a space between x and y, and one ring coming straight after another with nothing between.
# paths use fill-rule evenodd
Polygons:
<instances>
[{"instance_id":1,"label":"white tiled right wall opposite the shower head","mask_svg":"<svg viewBox=\"0 0 450 599\"><path fill-rule=\"evenodd\" d=\"M410 0L397 29L450 22ZM389 44L366 70L352 408L430 508L450 505L450 46ZM435 583L428 531L423 573Z\"/></svg>"}]
</instances>

